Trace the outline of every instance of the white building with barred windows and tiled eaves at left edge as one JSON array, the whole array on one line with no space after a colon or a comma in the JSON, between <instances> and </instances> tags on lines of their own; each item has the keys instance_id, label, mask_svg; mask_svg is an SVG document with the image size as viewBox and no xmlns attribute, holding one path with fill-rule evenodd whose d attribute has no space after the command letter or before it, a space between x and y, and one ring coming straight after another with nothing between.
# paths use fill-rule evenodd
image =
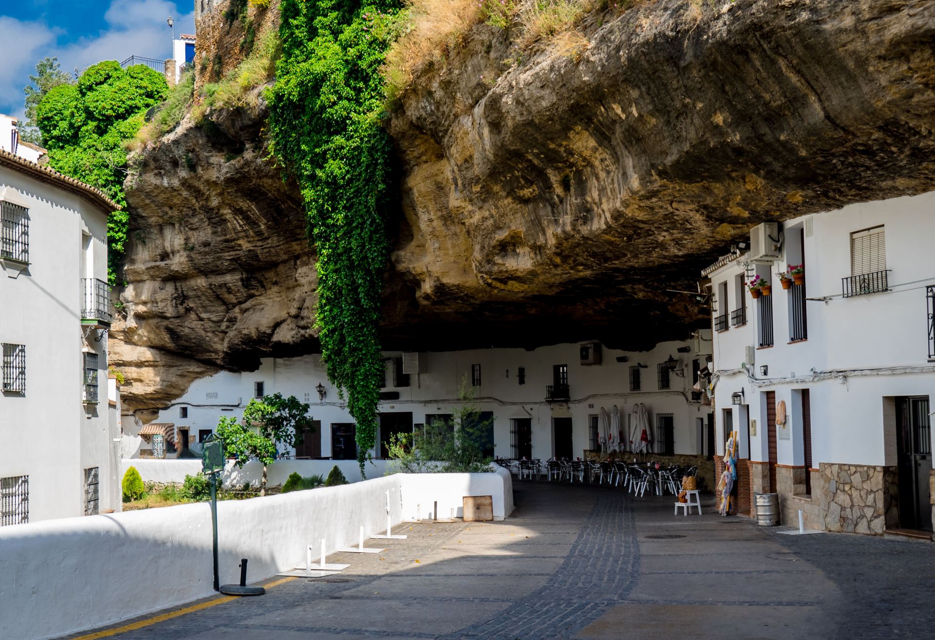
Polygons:
<instances>
[{"instance_id":1,"label":"white building with barred windows and tiled eaves at left edge","mask_svg":"<svg viewBox=\"0 0 935 640\"><path fill-rule=\"evenodd\" d=\"M105 283L116 208L0 151L0 525L121 508Z\"/></svg>"}]
</instances>

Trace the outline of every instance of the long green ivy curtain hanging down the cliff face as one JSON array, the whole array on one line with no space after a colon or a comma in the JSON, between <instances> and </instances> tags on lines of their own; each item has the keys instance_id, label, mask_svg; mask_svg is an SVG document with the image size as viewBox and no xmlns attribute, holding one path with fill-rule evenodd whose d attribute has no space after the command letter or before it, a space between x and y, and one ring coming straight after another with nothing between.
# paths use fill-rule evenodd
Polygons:
<instances>
[{"instance_id":1,"label":"long green ivy curtain hanging down the cliff face","mask_svg":"<svg viewBox=\"0 0 935 640\"><path fill-rule=\"evenodd\" d=\"M318 255L319 339L328 377L347 393L364 471L380 400L380 294L389 245L389 136L380 70L398 2L283 0L282 57L267 92L273 150L305 198Z\"/></svg>"}]
</instances>

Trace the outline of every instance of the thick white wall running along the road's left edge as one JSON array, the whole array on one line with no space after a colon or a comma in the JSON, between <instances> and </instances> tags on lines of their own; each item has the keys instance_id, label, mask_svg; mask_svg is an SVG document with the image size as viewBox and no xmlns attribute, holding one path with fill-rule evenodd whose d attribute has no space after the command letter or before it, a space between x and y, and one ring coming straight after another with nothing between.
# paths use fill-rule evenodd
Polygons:
<instances>
[{"instance_id":1,"label":"thick white wall running along the road's left edge","mask_svg":"<svg viewBox=\"0 0 935 640\"><path fill-rule=\"evenodd\" d=\"M138 460L137 460L138 461ZM440 491L440 488L444 491ZM493 495L496 519L512 511L511 476L396 473L340 487L218 503L221 582L236 583L250 560L251 582L319 557L408 517L415 500L454 502L455 493ZM471 493L470 491L482 491ZM440 495L439 495L440 494ZM502 511L497 505L502 505ZM442 512L444 515L444 512ZM498 516L498 517L497 517ZM213 593L207 502L102 516L69 517L0 529L0 638L38 640L134 618Z\"/></svg>"}]
</instances>

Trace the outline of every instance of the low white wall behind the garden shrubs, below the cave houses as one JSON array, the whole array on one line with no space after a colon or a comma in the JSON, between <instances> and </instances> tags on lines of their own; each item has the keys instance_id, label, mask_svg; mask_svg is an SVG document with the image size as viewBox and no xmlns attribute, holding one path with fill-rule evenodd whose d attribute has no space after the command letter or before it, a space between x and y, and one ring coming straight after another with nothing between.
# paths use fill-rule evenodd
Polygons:
<instances>
[{"instance_id":1,"label":"low white wall behind the garden shrubs, below the cave houses","mask_svg":"<svg viewBox=\"0 0 935 640\"><path fill-rule=\"evenodd\" d=\"M367 462L365 473L368 478L380 477L386 472L387 460L372 460ZM360 466L357 460L277 460L266 467L266 485L275 487L285 483L286 478L293 472L298 472L302 477L319 474L328 477L328 473L338 465L341 473L348 479L348 482L359 482ZM143 482L183 482L186 475L194 475L201 471L200 459L168 459L157 460L147 458L123 458L122 472L130 467L135 467ZM234 460L227 460L223 473L224 487L241 487L248 482L253 487L259 487L263 478L263 464L257 460L251 460L243 465L243 469L238 469Z\"/></svg>"}]
</instances>

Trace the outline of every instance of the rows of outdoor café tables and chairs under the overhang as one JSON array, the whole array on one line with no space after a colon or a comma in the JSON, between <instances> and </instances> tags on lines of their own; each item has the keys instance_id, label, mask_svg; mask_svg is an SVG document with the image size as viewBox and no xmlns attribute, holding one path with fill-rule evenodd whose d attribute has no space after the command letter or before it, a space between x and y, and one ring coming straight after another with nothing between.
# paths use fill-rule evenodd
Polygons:
<instances>
[{"instance_id":1,"label":"rows of outdoor caf\u00e9 tables and chairs under the overhang","mask_svg":"<svg viewBox=\"0 0 935 640\"><path fill-rule=\"evenodd\" d=\"M664 466L655 460L630 463L620 460L496 458L494 462L520 481L546 480L624 487L626 491L640 497L647 492L657 496L678 496L683 488L683 478L694 477L698 473L698 467Z\"/></svg>"}]
</instances>

